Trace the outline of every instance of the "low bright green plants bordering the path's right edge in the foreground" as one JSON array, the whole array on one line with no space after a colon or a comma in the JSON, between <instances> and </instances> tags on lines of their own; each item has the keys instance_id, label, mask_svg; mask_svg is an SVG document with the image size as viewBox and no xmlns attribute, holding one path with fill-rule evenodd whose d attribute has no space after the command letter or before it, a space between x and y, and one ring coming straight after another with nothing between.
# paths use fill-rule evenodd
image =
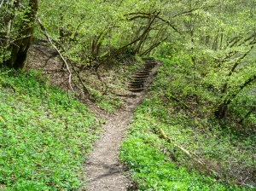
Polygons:
<instances>
[{"instance_id":1,"label":"low bright green plants bordering the path's right edge in the foreground","mask_svg":"<svg viewBox=\"0 0 256 191\"><path fill-rule=\"evenodd\" d=\"M177 167L158 148L158 137L144 133L122 145L121 159L129 165L138 190L227 190L213 178Z\"/></svg>"}]
</instances>

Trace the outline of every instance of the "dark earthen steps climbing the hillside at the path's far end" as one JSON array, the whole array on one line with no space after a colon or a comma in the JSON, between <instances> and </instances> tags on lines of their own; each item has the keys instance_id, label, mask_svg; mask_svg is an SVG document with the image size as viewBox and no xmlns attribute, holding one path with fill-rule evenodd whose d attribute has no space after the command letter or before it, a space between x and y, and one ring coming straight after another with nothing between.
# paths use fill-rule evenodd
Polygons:
<instances>
[{"instance_id":1,"label":"dark earthen steps climbing the hillside at the path's far end","mask_svg":"<svg viewBox=\"0 0 256 191\"><path fill-rule=\"evenodd\" d=\"M154 58L143 58L143 66L136 72L129 84L128 89L132 92L140 92L144 90L144 84L149 76L149 73L157 64Z\"/></svg>"}]
</instances>

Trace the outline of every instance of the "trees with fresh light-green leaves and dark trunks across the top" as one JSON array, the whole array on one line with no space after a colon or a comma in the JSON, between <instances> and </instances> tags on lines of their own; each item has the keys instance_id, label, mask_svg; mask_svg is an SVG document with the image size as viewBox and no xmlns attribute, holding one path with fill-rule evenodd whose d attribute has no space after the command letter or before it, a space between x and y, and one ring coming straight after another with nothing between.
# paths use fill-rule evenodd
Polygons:
<instances>
[{"instance_id":1,"label":"trees with fresh light-green leaves and dark trunks across the top","mask_svg":"<svg viewBox=\"0 0 256 191\"><path fill-rule=\"evenodd\" d=\"M218 94L214 108L218 119L229 115L237 99L246 103L241 124L255 112L248 96L255 91L256 79L253 1L3 1L0 9L0 63L9 67L24 66L38 13L42 23L36 38L47 36L69 75L79 78L79 83L69 78L69 90L79 85L81 93L90 96L83 71L98 72L116 57L150 53L165 57L177 49L192 63L184 67L195 96L201 86ZM160 44L167 45L162 52L156 49Z\"/></svg>"}]
</instances>

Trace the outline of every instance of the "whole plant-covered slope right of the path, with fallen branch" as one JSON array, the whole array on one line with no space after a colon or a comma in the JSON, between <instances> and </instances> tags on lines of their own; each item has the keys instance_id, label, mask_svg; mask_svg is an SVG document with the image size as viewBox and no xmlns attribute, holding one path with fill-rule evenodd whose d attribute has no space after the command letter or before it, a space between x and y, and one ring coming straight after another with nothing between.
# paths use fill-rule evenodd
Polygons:
<instances>
[{"instance_id":1,"label":"whole plant-covered slope right of the path, with fallen branch","mask_svg":"<svg viewBox=\"0 0 256 191\"><path fill-rule=\"evenodd\" d=\"M220 123L212 116L214 96L201 91L196 106L180 70L164 61L119 150L138 190L256 190L253 117L243 126Z\"/></svg>"}]
</instances>

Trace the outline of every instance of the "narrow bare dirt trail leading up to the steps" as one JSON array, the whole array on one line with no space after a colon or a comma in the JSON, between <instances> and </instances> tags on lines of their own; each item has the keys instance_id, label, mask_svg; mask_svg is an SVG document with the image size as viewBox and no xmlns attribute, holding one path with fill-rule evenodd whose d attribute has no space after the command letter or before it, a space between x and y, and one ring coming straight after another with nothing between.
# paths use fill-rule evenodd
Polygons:
<instances>
[{"instance_id":1,"label":"narrow bare dirt trail leading up to the steps","mask_svg":"<svg viewBox=\"0 0 256 191\"><path fill-rule=\"evenodd\" d=\"M160 64L157 62L152 72L149 73L143 90L133 93L136 97L128 98L125 106L119 111L105 116L108 119L103 125L105 131L96 142L84 166L88 191L123 191L132 187L131 178L125 173L127 168L119 162L119 144L125 136L124 131L133 117L135 108L147 94L147 86L151 84Z\"/></svg>"}]
</instances>

